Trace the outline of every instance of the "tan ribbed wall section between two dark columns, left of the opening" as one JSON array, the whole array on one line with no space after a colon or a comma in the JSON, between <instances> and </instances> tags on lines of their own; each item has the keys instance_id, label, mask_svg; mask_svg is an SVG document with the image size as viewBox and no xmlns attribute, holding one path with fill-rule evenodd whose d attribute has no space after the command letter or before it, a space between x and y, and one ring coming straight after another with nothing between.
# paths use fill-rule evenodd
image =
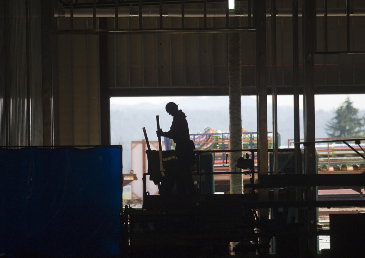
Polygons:
<instances>
[{"instance_id":1,"label":"tan ribbed wall section between two dark columns, left of the opening","mask_svg":"<svg viewBox=\"0 0 365 258\"><path fill-rule=\"evenodd\" d=\"M58 19L58 28L70 28ZM93 26L91 19L74 18L75 29ZM99 36L58 35L58 119L60 145L99 145ZM102 57L103 58L103 57ZM55 116L56 117L56 116Z\"/></svg>"}]
</instances>

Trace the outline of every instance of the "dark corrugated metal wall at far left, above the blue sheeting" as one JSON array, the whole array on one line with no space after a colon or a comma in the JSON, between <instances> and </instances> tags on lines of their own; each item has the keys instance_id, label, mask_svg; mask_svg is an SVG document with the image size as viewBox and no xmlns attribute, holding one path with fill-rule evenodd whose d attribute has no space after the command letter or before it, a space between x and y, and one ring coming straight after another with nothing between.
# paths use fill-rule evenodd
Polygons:
<instances>
[{"instance_id":1,"label":"dark corrugated metal wall at far left, above the blue sheeting","mask_svg":"<svg viewBox=\"0 0 365 258\"><path fill-rule=\"evenodd\" d=\"M42 145L43 142L42 112L39 112L42 110L42 66L38 2L14 0L0 4L1 145ZM32 15L28 17L28 13Z\"/></svg>"}]
</instances>

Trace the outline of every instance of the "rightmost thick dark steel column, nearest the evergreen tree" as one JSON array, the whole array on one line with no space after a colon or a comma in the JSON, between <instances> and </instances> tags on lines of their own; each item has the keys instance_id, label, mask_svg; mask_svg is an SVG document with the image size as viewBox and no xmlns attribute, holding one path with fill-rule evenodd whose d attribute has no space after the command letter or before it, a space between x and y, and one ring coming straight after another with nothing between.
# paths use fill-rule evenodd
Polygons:
<instances>
[{"instance_id":1,"label":"rightmost thick dark steel column, nearest the evergreen tree","mask_svg":"<svg viewBox=\"0 0 365 258\"><path fill-rule=\"evenodd\" d=\"M304 141L315 140L315 112L314 112L314 50L315 50L315 1L303 0L303 105L304 105ZM304 147L305 174L316 174L315 145ZM316 200L316 188L305 191L305 201ZM316 209L303 211L303 222L307 223L309 233L316 231ZM317 255L317 239L310 237L305 250L307 257Z\"/></svg>"}]
</instances>

